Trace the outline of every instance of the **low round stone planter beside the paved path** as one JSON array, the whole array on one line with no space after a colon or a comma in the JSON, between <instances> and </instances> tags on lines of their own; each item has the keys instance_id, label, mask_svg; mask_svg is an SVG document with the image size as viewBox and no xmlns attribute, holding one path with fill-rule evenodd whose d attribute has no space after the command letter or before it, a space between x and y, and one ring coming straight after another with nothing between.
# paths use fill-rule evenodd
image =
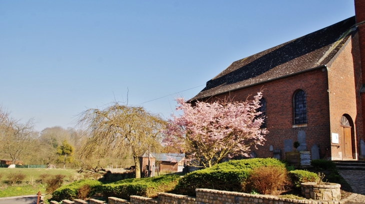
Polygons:
<instances>
[{"instance_id":1,"label":"low round stone planter beside the paved path","mask_svg":"<svg viewBox=\"0 0 365 204\"><path fill-rule=\"evenodd\" d=\"M306 199L339 201L341 200L341 185L334 183L317 184L314 182L301 183L301 195Z\"/></svg>"}]
</instances>

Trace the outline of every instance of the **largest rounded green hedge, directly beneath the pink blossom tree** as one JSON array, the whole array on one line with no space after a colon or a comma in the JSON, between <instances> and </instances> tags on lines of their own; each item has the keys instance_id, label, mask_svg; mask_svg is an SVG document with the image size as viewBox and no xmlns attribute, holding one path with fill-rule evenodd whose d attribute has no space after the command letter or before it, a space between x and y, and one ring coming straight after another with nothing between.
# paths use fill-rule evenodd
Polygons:
<instances>
[{"instance_id":1,"label":"largest rounded green hedge, directly beneath the pink blossom tree","mask_svg":"<svg viewBox=\"0 0 365 204\"><path fill-rule=\"evenodd\" d=\"M198 188L242 192L243 185L252 169L271 166L285 168L284 163L270 158L224 162L186 174L179 180L173 192L187 196L195 196L195 189Z\"/></svg>"}]
</instances>

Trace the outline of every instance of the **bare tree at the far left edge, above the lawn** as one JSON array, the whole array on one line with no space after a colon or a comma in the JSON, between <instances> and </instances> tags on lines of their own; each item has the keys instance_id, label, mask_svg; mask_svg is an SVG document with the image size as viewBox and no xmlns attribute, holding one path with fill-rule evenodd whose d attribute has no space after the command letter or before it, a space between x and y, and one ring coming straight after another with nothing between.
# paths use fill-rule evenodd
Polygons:
<instances>
[{"instance_id":1,"label":"bare tree at the far left edge, above the lawn","mask_svg":"<svg viewBox=\"0 0 365 204\"><path fill-rule=\"evenodd\" d=\"M37 134L33 119L20 123L0 107L0 150L5 157L12 160L12 164L20 157L34 153L32 150L37 145Z\"/></svg>"}]
</instances>

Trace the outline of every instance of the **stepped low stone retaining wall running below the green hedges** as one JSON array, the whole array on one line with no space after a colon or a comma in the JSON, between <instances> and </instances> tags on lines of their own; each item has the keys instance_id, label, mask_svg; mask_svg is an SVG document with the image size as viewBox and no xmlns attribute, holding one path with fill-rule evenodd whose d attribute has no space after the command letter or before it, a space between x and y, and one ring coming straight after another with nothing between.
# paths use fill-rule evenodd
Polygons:
<instances>
[{"instance_id":1,"label":"stepped low stone retaining wall running below the green hedges","mask_svg":"<svg viewBox=\"0 0 365 204\"><path fill-rule=\"evenodd\" d=\"M108 198L108 204L345 204L348 199L341 201L313 201L313 200L292 200L280 199L276 196L250 195L238 192L217 191L210 189L196 189L196 197L189 197L176 194L159 193L158 199L130 196L130 201L114 197ZM70 201L63 200L63 204ZM79 200L75 200L74 204ZM102 201L91 199L90 204L105 204ZM58 204L58 203L52 203Z\"/></svg>"}]
</instances>

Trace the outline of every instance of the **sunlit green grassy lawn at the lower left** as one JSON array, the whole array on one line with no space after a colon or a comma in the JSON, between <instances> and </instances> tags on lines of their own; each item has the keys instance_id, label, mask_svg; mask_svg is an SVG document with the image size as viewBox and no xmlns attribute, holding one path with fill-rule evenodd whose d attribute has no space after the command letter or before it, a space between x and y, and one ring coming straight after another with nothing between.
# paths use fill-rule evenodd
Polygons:
<instances>
[{"instance_id":1,"label":"sunlit green grassy lawn at the lower left","mask_svg":"<svg viewBox=\"0 0 365 204\"><path fill-rule=\"evenodd\" d=\"M10 186L7 184L7 177L10 173L21 172L26 177L20 184ZM65 175L64 183L70 183L70 178L74 176L81 176L76 170L63 170L63 169L32 169L32 168L0 168L0 198L1 197L12 197L12 196L25 196L34 195L40 191L41 194L45 193L45 185L40 184L39 176L41 174L49 175ZM32 184L31 182L32 181Z\"/></svg>"}]
</instances>

